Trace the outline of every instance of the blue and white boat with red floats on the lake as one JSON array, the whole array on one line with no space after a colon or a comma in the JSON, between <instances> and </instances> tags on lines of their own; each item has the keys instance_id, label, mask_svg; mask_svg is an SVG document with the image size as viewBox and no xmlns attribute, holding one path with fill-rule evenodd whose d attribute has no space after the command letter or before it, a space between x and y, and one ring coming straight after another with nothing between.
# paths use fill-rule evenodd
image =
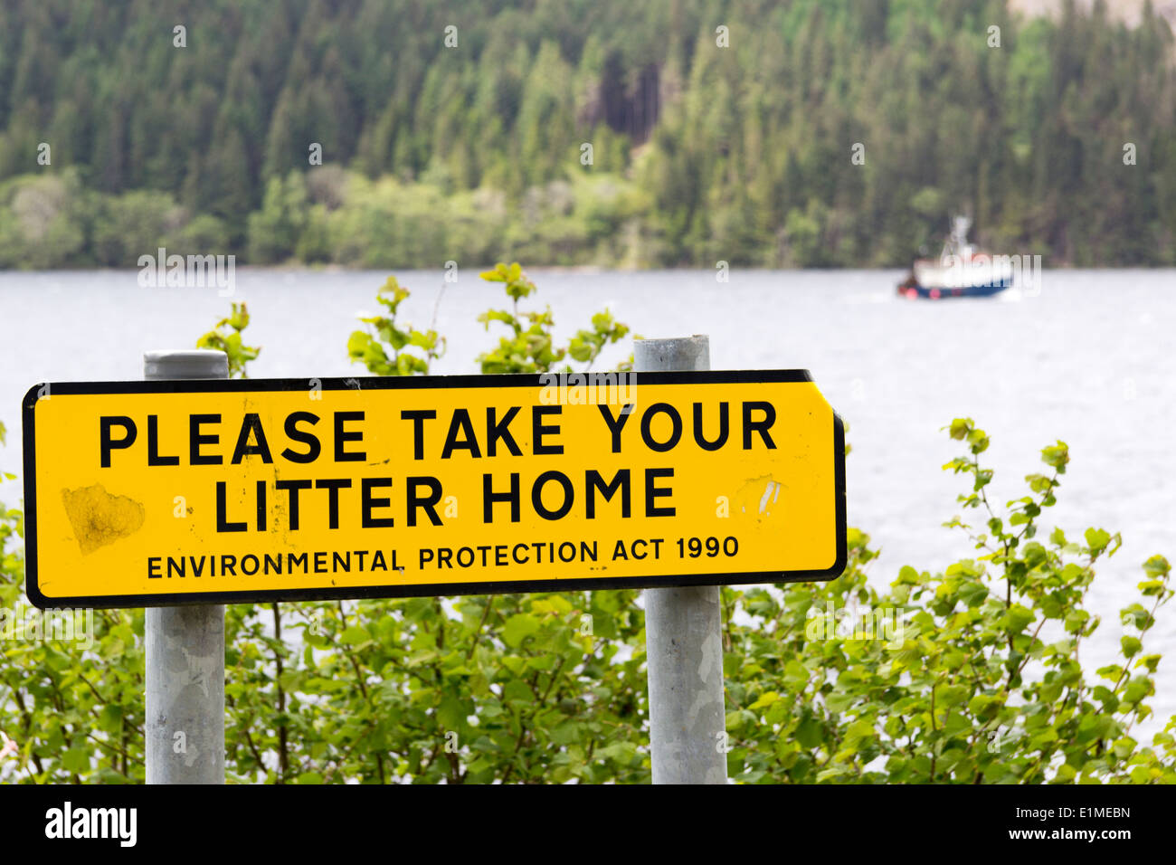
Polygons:
<instances>
[{"instance_id":1,"label":"blue and white boat with red floats on the lake","mask_svg":"<svg viewBox=\"0 0 1176 865\"><path fill-rule=\"evenodd\" d=\"M1011 286L1010 258L993 255L969 244L970 227L970 219L955 217L938 261L916 259L910 273L898 284L898 294L910 300L989 298Z\"/></svg>"}]
</instances>

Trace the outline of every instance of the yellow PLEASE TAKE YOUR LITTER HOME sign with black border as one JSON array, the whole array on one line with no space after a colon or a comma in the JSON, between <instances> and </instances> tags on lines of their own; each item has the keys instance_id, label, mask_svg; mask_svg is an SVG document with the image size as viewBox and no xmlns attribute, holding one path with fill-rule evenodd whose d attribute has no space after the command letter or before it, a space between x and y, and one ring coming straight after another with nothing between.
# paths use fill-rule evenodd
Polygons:
<instances>
[{"instance_id":1,"label":"yellow PLEASE TAKE YOUR LITTER HOME sign with black border","mask_svg":"<svg viewBox=\"0 0 1176 865\"><path fill-rule=\"evenodd\" d=\"M833 579L806 371L72 382L25 398L40 607Z\"/></svg>"}]
</instances>

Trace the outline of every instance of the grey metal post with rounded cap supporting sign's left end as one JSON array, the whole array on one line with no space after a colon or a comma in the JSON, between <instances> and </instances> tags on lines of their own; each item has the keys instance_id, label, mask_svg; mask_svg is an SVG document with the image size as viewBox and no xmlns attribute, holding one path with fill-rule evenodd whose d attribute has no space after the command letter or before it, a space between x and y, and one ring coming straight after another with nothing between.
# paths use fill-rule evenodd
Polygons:
<instances>
[{"instance_id":1,"label":"grey metal post with rounded cap supporting sign's left end","mask_svg":"<svg viewBox=\"0 0 1176 865\"><path fill-rule=\"evenodd\" d=\"M143 378L227 379L225 352L147 352ZM225 605L147 611L147 783L225 783Z\"/></svg>"}]
</instances>

